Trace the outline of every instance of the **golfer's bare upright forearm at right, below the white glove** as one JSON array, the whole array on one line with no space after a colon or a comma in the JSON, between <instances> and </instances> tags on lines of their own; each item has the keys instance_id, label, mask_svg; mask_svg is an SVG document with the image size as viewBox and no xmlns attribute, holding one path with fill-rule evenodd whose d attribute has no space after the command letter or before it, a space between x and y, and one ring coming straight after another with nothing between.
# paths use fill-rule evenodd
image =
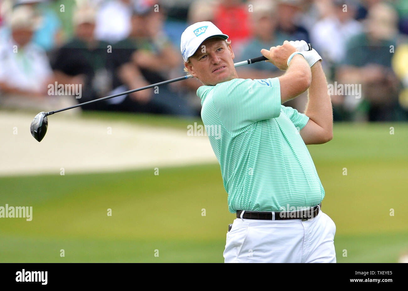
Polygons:
<instances>
[{"instance_id":1,"label":"golfer's bare upright forearm at right, below the white glove","mask_svg":"<svg viewBox=\"0 0 408 291\"><path fill-rule=\"evenodd\" d=\"M321 61L312 67L312 82L308 90L305 114L329 135L333 135L333 109L327 92L327 81Z\"/></svg>"}]
</instances>

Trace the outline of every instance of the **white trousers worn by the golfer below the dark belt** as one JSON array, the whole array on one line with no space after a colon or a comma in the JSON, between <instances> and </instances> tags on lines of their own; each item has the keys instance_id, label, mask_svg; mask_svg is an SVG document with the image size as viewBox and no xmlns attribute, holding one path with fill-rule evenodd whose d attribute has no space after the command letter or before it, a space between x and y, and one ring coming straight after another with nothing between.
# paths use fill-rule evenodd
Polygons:
<instances>
[{"instance_id":1,"label":"white trousers worn by the golfer below the dark belt","mask_svg":"<svg viewBox=\"0 0 408 291\"><path fill-rule=\"evenodd\" d=\"M309 220L236 218L227 232L226 263L335 263L336 225L319 211Z\"/></svg>"}]
</instances>

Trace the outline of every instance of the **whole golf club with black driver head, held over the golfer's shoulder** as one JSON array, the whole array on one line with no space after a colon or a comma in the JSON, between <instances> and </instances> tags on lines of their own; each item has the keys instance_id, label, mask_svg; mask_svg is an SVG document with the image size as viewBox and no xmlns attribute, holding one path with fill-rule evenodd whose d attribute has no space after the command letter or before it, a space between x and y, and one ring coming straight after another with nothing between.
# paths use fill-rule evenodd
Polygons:
<instances>
[{"instance_id":1,"label":"whole golf club with black driver head, held over the golfer's shoulder","mask_svg":"<svg viewBox=\"0 0 408 291\"><path fill-rule=\"evenodd\" d=\"M310 44L308 44L308 46L309 46L308 50L310 51L312 49L312 46ZM264 57L264 56L259 56L257 58L251 58L251 59L248 59L248 60L245 60L245 61L242 61L242 62L237 62L237 63L234 64L234 67L239 67L239 66L242 66L244 64L253 64L255 62L261 62L261 61L264 61L264 60L268 60L268 59L266 57ZM140 88L137 88L137 89L124 91L122 93L114 94L114 95L111 95L111 96L106 96L106 97L91 100L91 101L88 101L88 102L76 104L76 105L73 105L73 106L70 106L70 107L67 107L67 108L63 108L63 109L59 109L59 110L56 110L56 111L49 111L49 112L44 112L43 111L43 112L40 112L34 117L33 121L31 122L31 126L30 126L31 135L36 140L38 140L38 142L40 142L44 138L45 133L47 133L47 129L48 129L48 118L47 118L47 116L49 116L51 114L61 112L61 111L65 111L65 110L69 110L69 109L73 109L73 108L76 108L76 107L80 107L80 106L85 105L85 104L90 104L90 103L93 103L93 102L98 102L98 101L101 101L101 100L106 100L106 99L110 99L110 98L130 94L130 93L133 93L133 92L153 88L155 86L170 84L170 83L173 83L173 82L186 80L186 79L190 79L190 78L193 78L193 76L192 75L186 75L186 76L182 76L182 77L179 77L179 78L159 82L159 83L156 83L156 84L151 84L149 86L140 87Z\"/></svg>"}]
</instances>

